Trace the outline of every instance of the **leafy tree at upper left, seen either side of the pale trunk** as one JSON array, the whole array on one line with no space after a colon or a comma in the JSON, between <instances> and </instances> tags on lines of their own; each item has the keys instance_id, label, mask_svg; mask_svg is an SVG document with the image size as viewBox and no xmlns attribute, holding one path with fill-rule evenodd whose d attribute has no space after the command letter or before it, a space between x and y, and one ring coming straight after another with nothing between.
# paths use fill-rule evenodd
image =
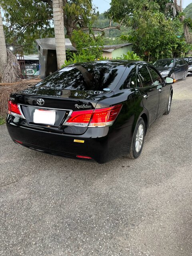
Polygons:
<instances>
[{"instance_id":1,"label":"leafy tree at upper left, seen either side of the pale trunk","mask_svg":"<svg viewBox=\"0 0 192 256\"><path fill-rule=\"evenodd\" d=\"M36 38L54 36L52 0L0 0L0 5L4 10L7 42L31 46ZM88 31L98 17L92 0L63 0L63 12L69 38L75 29ZM108 24L105 28L92 27L92 30L103 32L119 27Z\"/></svg>"}]
</instances>

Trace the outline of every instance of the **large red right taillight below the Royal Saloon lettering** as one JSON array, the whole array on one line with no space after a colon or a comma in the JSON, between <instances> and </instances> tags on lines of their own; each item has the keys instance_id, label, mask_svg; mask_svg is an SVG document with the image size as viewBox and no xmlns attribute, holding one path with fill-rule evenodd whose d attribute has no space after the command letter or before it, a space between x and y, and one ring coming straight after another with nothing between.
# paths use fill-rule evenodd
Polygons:
<instances>
[{"instance_id":1,"label":"large red right taillight below the Royal Saloon lettering","mask_svg":"<svg viewBox=\"0 0 192 256\"><path fill-rule=\"evenodd\" d=\"M121 108L122 104L108 108L97 108L95 110L74 111L64 125L89 127L110 126L115 121Z\"/></svg>"}]
</instances>

